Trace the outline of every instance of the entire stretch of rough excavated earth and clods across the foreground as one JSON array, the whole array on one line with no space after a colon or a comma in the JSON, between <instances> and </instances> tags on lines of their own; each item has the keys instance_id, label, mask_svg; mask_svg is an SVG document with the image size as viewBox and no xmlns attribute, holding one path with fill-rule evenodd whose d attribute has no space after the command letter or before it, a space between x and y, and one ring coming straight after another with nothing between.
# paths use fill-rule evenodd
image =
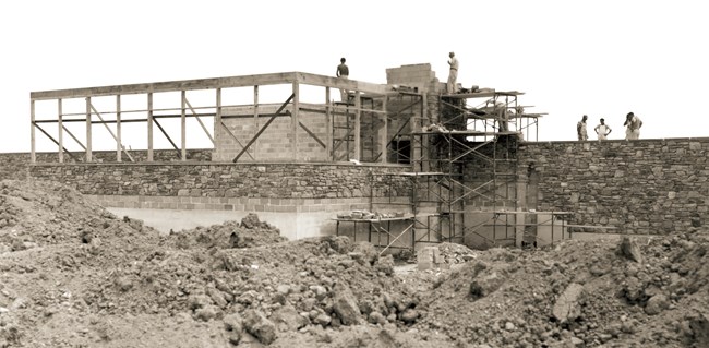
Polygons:
<instances>
[{"instance_id":1,"label":"entire stretch of rough excavated earth and clods across the foreground","mask_svg":"<svg viewBox=\"0 0 709 348\"><path fill-rule=\"evenodd\" d=\"M709 233L437 247L417 271L268 223L160 233L0 181L0 347L709 347Z\"/></svg>"}]
</instances>

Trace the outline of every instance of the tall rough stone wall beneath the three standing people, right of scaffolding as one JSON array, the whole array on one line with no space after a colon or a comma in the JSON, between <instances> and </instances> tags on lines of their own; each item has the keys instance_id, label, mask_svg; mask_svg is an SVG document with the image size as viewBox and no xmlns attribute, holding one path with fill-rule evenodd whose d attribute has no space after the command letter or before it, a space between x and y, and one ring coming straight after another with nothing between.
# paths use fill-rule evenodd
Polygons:
<instances>
[{"instance_id":1,"label":"tall rough stone wall beneath the three standing people, right of scaffolding","mask_svg":"<svg viewBox=\"0 0 709 348\"><path fill-rule=\"evenodd\" d=\"M708 154L709 139L526 143L519 165L539 175L538 211L658 235L709 218Z\"/></svg>"}]
</instances>

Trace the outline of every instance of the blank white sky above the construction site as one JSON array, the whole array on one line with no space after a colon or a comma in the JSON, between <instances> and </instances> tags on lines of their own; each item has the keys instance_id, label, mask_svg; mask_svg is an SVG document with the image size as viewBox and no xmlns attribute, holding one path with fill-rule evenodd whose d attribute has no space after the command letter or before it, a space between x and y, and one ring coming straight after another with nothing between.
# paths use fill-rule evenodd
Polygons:
<instances>
[{"instance_id":1,"label":"blank white sky above the construction site","mask_svg":"<svg viewBox=\"0 0 709 348\"><path fill-rule=\"evenodd\" d=\"M708 136L709 11L701 1L80 1L0 3L0 152L29 151L29 93L261 73L386 83L386 69L455 51L464 87L519 91L539 141L605 118L624 139ZM38 137L41 134L38 133ZM38 151L56 151L44 139Z\"/></svg>"}]
</instances>

